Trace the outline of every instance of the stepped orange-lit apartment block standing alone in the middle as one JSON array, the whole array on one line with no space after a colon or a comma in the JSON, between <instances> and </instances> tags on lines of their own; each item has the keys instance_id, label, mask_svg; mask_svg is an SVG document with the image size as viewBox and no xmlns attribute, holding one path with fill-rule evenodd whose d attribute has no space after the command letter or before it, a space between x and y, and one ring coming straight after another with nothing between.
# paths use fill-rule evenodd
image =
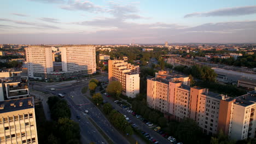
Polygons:
<instances>
[{"instance_id":1,"label":"stepped orange-lit apartment block standing alone in the middle","mask_svg":"<svg viewBox=\"0 0 256 144\"><path fill-rule=\"evenodd\" d=\"M124 60L109 60L108 80L119 81L123 88L122 94L135 98L139 93L139 66Z\"/></svg>"}]
</instances>

